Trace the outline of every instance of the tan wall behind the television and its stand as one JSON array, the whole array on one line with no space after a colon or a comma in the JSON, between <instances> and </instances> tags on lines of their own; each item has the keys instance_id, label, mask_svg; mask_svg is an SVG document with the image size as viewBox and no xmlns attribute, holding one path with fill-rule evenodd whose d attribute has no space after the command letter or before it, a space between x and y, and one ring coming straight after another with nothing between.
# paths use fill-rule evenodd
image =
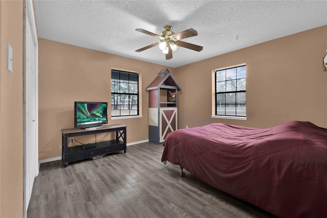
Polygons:
<instances>
[{"instance_id":1,"label":"tan wall behind the television and its stand","mask_svg":"<svg viewBox=\"0 0 327 218\"><path fill-rule=\"evenodd\" d=\"M127 143L148 140L146 87L167 67L39 38L40 160L61 156L60 130L74 128L74 101L110 105L111 68L141 73L143 118L110 120L109 107L108 123L127 125ZM168 69L173 73L174 69ZM107 136L97 135L97 140L101 137ZM82 143L92 140L94 136L78 138Z\"/></svg>"}]
</instances>

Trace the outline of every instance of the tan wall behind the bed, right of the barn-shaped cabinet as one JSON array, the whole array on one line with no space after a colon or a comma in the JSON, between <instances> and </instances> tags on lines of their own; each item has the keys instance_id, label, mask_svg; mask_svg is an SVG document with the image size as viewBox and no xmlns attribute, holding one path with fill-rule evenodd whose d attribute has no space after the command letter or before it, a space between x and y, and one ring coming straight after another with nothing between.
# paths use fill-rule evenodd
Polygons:
<instances>
[{"instance_id":1,"label":"tan wall behind the bed, right of the barn-shaped cabinet","mask_svg":"<svg viewBox=\"0 0 327 218\"><path fill-rule=\"evenodd\" d=\"M179 128L214 122L269 127L291 120L327 127L326 49L323 26L176 68ZM247 121L211 118L212 70L241 63L246 63Z\"/></svg>"}]
</instances>

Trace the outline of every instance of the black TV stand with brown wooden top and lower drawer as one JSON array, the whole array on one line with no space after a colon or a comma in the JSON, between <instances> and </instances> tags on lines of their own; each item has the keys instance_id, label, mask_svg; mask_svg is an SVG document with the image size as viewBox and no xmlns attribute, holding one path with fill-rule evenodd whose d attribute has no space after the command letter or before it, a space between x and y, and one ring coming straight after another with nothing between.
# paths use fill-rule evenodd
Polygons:
<instances>
[{"instance_id":1,"label":"black TV stand with brown wooden top and lower drawer","mask_svg":"<svg viewBox=\"0 0 327 218\"><path fill-rule=\"evenodd\" d=\"M96 142L87 145L76 145L68 147L68 138L74 136L85 136L91 134L116 132L114 140ZM100 155L124 150L126 153L126 125L114 124L103 125L95 128L68 128L61 129L62 133L62 161L66 167L69 162L84 160ZM120 140L121 139L121 140Z\"/></svg>"}]
</instances>

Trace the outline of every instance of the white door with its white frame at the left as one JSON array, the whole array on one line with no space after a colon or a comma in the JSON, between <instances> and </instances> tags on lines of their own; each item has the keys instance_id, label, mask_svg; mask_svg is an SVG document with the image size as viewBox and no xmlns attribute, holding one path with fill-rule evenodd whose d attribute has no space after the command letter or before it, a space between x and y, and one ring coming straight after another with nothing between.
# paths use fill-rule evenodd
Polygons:
<instances>
[{"instance_id":1,"label":"white door with its white frame at the left","mask_svg":"<svg viewBox=\"0 0 327 218\"><path fill-rule=\"evenodd\" d=\"M24 1L24 217L38 175L38 42L32 1Z\"/></svg>"}]
</instances>

